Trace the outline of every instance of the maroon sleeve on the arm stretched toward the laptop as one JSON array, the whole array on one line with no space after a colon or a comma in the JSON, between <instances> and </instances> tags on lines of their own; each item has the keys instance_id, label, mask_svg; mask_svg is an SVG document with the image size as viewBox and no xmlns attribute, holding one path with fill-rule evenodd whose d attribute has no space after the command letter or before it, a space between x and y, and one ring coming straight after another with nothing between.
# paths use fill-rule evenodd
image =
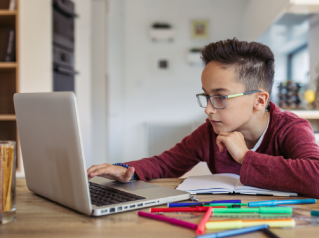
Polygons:
<instances>
[{"instance_id":1,"label":"maroon sleeve on the arm stretched toward the laptop","mask_svg":"<svg viewBox=\"0 0 319 238\"><path fill-rule=\"evenodd\" d=\"M159 156L126 162L133 166L140 180L180 177L199 161L209 157L209 130L207 123L199 126L173 148Z\"/></svg>"}]
</instances>

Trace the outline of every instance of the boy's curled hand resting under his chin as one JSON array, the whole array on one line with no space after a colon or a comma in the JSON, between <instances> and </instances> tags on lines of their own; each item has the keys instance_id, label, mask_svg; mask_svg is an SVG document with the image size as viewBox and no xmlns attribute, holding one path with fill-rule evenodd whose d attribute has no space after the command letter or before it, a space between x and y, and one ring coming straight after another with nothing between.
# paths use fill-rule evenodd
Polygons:
<instances>
[{"instance_id":1,"label":"boy's curled hand resting under his chin","mask_svg":"<svg viewBox=\"0 0 319 238\"><path fill-rule=\"evenodd\" d=\"M217 136L217 146L220 152L222 152L224 146L226 146L230 155L239 163L243 163L245 155L249 151L243 134L237 131L220 132Z\"/></svg>"}]
</instances>

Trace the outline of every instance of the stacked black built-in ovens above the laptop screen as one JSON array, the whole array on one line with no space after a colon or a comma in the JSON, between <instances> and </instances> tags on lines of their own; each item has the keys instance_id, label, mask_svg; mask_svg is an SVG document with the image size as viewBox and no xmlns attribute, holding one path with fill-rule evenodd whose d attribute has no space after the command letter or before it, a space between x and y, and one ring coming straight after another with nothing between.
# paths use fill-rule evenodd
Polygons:
<instances>
[{"instance_id":1,"label":"stacked black built-in ovens above the laptop screen","mask_svg":"<svg viewBox=\"0 0 319 238\"><path fill-rule=\"evenodd\" d=\"M74 3L53 0L53 91L75 91Z\"/></svg>"}]
</instances>

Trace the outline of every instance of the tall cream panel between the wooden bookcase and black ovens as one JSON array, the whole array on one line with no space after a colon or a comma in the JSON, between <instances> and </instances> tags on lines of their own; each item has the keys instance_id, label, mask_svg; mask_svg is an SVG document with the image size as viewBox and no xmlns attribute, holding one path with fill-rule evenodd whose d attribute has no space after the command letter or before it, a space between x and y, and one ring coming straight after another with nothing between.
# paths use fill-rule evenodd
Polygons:
<instances>
[{"instance_id":1,"label":"tall cream panel between the wooden bookcase and black ovens","mask_svg":"<svg viewBox=\"0 0 319 238\"><path fill-rule=\"evenodd\" d=\"M51 0L19 1L20 92L52 91Z\"/></svg>"}]
</instances>

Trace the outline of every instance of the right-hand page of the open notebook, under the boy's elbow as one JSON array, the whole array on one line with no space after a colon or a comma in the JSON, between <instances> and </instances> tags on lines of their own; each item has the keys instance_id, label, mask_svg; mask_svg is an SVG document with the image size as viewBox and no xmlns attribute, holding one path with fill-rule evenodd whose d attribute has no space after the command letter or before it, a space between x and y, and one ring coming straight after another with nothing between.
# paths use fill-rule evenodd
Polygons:
<instances>
[{"instance_id":1,"label":"right-hand page of the open notebook, under the boy's elbow","mask_svg":"<svg viewBox=\"0 0 319 238\"><path fill-rule=\"evenodd\" d=\"M298 196L298 194L294 192L279 191L279 190L272 190L272 189L265 189L265 188L243 185L239 181L239 179L234 188L234 191L236 193L268 194L268 195L274 195L274 196Z\"/></svg>"}]
</instances>

